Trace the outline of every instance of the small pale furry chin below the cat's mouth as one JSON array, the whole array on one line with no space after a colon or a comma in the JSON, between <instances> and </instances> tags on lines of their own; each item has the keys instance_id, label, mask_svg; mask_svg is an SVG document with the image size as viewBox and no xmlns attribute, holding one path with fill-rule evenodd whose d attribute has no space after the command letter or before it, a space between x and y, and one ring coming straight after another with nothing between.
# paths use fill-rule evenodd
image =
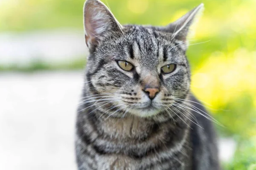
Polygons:
<instances>
[{"instance_id":1,"label":"small pale furry chin below the cat's mouth","mask_svg":"<svg viewBox=\"0 0 256 170\"><path fill-rule=\"evenodd\" d=\"M157 108L134 108L129 111L131 114L139 117L151 117L160 113L160 110Z\"/></svg>"}]
</instances>

